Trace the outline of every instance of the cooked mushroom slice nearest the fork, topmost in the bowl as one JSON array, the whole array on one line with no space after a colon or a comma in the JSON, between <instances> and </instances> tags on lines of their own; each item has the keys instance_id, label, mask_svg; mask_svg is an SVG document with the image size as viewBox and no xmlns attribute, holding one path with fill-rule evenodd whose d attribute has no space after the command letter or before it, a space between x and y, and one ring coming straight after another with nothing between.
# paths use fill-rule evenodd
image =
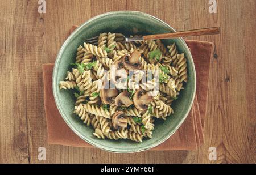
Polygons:
<instances>
[{"instance_id":1,"label":"cooked mushroom slice nearest the fork, topmost in the bowl","mask_svg":"<svg viewBox=\"0 0 256 175\"><path fill-rule=\"evenodd\" d=\"M125 54L122 57L123 66L128 70L141 69L139 58L141 58L141 53L138 52L138 50L134 50L134 52L131 53L131 56L129 56L129 54Z\"/></svg>"}]
</instances>

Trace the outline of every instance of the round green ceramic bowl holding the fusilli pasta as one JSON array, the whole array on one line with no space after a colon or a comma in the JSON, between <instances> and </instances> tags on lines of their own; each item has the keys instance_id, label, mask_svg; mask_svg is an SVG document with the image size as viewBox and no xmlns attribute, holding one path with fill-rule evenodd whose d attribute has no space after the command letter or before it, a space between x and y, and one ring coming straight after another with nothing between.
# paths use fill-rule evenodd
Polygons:
<instances>
[{"instance_id":1,"label":"round green ceramic bowl holding the fusilli pasta","mask_svg":"<svg viewBox=\"0 0 256 175\"><path fill-rule=\"evenodd\" d=\"M65 79L68 66L74 61L76 49L85 39L99 35L102 32L119 32L126 36L138 34L167 33L175 31L170 25L154 16L138 11L114 11L98 15L77 28L61 47L53 70L52 87L57 108L67 125L80 138L102 150L118 153L130 153L148 150L164 142L180 127L191 109L196 92L196 72L191 53L184 40L163 40L165 45L176 42L179 52L187 57L188 82L181 91L179 99L172 105L174 114L166 121L157 121L151 139L143 139L142 143L127 139L109 140L97 139L93 136L93 128L86 127L79 117L73 114L75 99L71 91L59 89L59 82Z\"/></svg>"}]
</instances>

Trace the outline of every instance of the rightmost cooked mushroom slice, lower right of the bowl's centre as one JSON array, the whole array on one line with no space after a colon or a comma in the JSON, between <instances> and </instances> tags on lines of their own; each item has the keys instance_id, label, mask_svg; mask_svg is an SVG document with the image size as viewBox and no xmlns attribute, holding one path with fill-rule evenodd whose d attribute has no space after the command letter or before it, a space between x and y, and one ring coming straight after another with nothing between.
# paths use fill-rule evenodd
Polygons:
<instances>
[{"instance_id":1,"label":"rightmost cooked mushroom slice, lower right of the bowl's centre","mask_svg":"<svg viewBox=\"0 0 256 175\"><path fill-rule=\"evenodd\" d=\"M133 103L134 106L139 110L147 110L147 104L150 104L151 101L153 101L153 97L143 89L139 89L134 93Z\"/></svg>"}]
</instances>

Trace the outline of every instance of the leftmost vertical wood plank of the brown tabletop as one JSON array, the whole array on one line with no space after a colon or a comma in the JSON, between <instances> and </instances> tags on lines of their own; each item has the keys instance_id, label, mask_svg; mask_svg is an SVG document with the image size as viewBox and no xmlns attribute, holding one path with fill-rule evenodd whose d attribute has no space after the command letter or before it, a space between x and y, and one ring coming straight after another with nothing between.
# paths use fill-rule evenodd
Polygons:
<instances>
[{"instance_id":1,"label":"leftmost vertical wood plank of the brown tabletop","mask_svg":"<svg viewBox=\"0 0 256 175\"><path fill-rule=\"evenodd\" d=\"M28 163L25 45L27 4L0 2L0 163Z\"/></svg>"}]
</instances>

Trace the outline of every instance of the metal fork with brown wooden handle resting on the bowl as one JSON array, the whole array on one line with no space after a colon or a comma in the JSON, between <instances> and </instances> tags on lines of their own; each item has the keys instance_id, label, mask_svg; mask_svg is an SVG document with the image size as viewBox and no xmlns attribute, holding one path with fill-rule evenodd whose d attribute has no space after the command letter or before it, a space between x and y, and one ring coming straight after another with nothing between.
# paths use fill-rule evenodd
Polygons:
<instances>
[{"instance_id":1,"label":"metal fork with brown wooden handle resting on the bowl","mask_svg":"<svg viewBox=\"0 0 256 175\"><path fill-rule=\"evenodd\" d=\"M216 35L220 33L220 27L195 29L190 31L180 31L171 33L162 33L155 35L136 36L136 37L125 37L122 33L115 33L115 41L119 42L133 42L143 40L157 40L157 39L174 39L177 37L188 37L188 36L201 36L201 35ZM98 37L94 36L87 39L86 42L92 45L98 44Z\"/></svg>"}]
</instances>

